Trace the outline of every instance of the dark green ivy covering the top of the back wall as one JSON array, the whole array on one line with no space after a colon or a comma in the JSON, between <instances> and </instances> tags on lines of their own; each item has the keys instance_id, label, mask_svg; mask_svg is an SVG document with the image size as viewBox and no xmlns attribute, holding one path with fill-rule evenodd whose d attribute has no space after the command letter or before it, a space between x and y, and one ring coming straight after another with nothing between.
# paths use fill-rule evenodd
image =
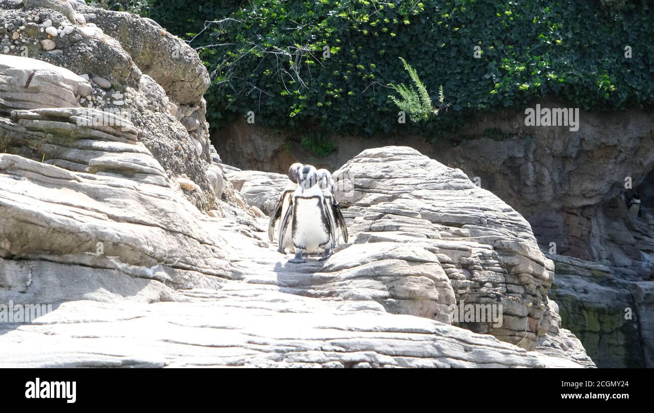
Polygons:
<instances>
[{"instance_id":1,"label":"dark green ivy covering the top of the back wall","mask_svg":"<svg viewBox=\"0 0 654 413\"><path fill-rule=\"evenodd\" d=\"M474 114L524 110L545 97L596 110L649 106L651 3L156 0L148 13L198 48L212 78L206 99L213 127L252 110L257 124L301 131L304 146L326 154L334 150L322 139L328 133L432 140ZM202 31L206 21L225 18L233 20ZM415 84L417 76L441 110L398 124L393 97L402 96L392 85Z\"/></svg>"}]
</instances>

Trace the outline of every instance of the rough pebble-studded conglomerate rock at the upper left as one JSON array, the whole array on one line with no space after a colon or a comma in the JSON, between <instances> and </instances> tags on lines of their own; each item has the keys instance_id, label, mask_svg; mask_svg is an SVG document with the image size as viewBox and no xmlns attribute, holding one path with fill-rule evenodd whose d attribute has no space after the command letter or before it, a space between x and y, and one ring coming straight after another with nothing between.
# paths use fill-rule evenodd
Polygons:
<instances>
[{"instance_id":1,"label":"rough pebble-studded conglomerate rock at the upper left","mask_svg":"<svg viewBox=\"0 0 654 413\"><path fill-rule=\"evenodd\" d=\"M196 184L198 190L185 196L201 210L211 210L214 195L222 195L216 193L222 171L212 162L215 150L202 99L209 76L198 55L138 16L80 5L71 17L69 7L59 0L0 2L5 76L0 78L0 110L35 108L34 103L26 107L23 99L41 108L90 107L118 114L139 129L139 142L167 176ZM110 35L118 31L129 35ZM52 42L52 48L44 41ZM44 63L51 63L53 73L42 73ZM52 84L43 80L47 78ZM53 85L61 82L66 87L59 88L60 96L51 96ZM37 101L39 95L42 101ZM194 131L184 126L189 118L198 122ZM40 151L32 159L48 161L50 154Z\"/></svg>"}]
</instances>

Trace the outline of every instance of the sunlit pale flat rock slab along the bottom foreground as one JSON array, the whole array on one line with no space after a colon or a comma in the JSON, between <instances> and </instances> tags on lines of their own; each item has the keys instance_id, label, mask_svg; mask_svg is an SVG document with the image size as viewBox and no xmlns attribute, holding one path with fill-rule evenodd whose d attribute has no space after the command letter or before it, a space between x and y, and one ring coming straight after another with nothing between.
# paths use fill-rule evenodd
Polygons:
<instances>
[{"instance_id":1,"label":"sunlit pale flat rock slab along the bottom foreground","mask_svg":"<svg viewBox=\"0 0 654 413\"><path fill-rule=\"evenodd\" d=\"M260 292L63 303L33 325L0 325L0 367L545 367L521 348L426 318Z\"/></svg>"}]
</instances>

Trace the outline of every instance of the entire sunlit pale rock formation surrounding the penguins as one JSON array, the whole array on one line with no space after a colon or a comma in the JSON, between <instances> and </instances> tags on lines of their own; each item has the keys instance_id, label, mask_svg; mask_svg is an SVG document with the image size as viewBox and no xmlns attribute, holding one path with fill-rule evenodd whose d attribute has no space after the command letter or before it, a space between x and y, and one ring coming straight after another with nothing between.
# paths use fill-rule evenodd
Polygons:
<instances>
[{"instance_id":1,"label":"entire sunlit pale rock formation surrounding the penguins","mask_svg":"<svg viewBox=\"0 0 654 413\"><path fill-rule=\"evenodd\" d=\"M528 223L411 148L343 165L351 243L286 263L262 213L283 179L215 163L192 50L66 5L0 1L0 305L52 305L0 322L0 367L593 366Z\"/></svg>"}]
</instances>

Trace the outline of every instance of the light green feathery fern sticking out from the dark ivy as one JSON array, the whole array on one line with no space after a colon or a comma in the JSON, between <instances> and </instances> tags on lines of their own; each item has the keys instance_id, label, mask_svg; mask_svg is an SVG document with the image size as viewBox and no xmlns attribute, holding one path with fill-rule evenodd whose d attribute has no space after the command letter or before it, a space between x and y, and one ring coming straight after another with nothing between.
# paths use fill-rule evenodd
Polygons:
<instances>
[{"instance_id":1,"label":"light green feathery fern sticking out from the dark ivy","mask_svg":"<svg viewBox=\"0 0 654 413\"><path fill-rule=\"evenodd\" d=\"M409 115L409 119L412 122L420 122L421 120L429 120L432 116L438 114L438 108L434 107L432 103L432 98L429 97L427 88L424 86L424 83L421 82L418 77L418 73L404 58L400 58L402 63L404 63L404 69L409 72L409 76L415 87L413 85L406 86L403 84L388 84L390 88L393 88L396 92L400 93L402 99L398 99L396 96L388 96L390 99L397 105L400 110L404 111ZM445 101L445 94L443 93L443 86L441 85L438 89L438 100L443 105Z\"/></svg>"}]
</instances>

